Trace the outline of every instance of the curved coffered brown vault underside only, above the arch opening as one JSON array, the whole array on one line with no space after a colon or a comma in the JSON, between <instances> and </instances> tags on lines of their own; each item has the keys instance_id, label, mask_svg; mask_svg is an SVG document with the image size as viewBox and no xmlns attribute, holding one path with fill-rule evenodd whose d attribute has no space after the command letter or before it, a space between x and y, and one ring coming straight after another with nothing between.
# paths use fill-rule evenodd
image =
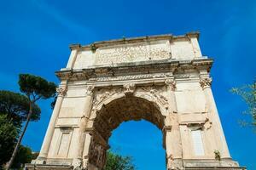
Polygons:
<instances>
[{"instance_id":1,"label":"curved coffered brown vault underside only, above the arch opening","mask_svg":"<svg viewBox=\"0 0 256 170\"><path fill-rule=\"evenodd\" d=\"M161 115L157 105L138 97L115 99L108 105L104 105L96 115L94 127L107 142L113 129L122 122L144 119L160 129L164 127L164 116Z\"/></svg>"}]
</instances>

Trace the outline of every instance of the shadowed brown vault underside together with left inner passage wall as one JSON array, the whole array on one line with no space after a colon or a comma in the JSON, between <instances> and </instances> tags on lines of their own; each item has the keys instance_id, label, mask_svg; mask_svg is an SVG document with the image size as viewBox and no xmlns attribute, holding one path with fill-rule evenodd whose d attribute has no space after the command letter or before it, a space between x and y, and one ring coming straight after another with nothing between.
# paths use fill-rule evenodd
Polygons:
<instances>
[{"instance_id":1,"label":"shadowed brown vault underside together with left inner passage wall","mask_svg":"<svg viewBox=\"0 0 256 170\"><path fill-rule=\"evenodd\" d=\"M134 96L114 99L96 113L93 123L94 135L90 143L89 162L95 169L102 169L106 161L108 139L113 129L122 122L146 120L152 122L160 130L164 127L164 119L160 108L154 102Z\"/></svg>"}]
</instances>

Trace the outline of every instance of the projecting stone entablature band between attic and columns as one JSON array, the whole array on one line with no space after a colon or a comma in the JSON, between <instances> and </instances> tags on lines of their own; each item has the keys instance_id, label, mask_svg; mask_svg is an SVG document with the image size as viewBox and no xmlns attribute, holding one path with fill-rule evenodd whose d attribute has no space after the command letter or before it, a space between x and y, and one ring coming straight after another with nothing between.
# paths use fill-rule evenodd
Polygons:
<instances>
[{"instance_id":1,"label":"projecting stone entablature band between attic and columns","mask_svg":"<svg viewBox=\"0 0 256 170\"><path fill-rule=\"evenodd\" d=\"M87 69L62 69L56 71L55 75L61 81L90 81L90 82L109 82L109 81L129 81L158 78L181 77L185 71L206 70L210 71L212 59L192 60L172 60L165 59L160 61L143 61L137 63L127 63L113 66L96 66Z\"/></svg>"}]
</instances>

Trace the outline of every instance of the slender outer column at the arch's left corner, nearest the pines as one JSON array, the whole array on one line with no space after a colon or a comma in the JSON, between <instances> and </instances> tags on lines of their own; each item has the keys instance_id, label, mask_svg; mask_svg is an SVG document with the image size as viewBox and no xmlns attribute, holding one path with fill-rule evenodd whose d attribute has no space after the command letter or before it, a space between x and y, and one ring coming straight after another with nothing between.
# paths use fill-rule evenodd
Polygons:
<instances>
[{"instance_id":1,"label":"slender outer column at the arch's left corner, nearest the pines","mask_svg":"<svg viewBox=\"0 0 256 170\"><path fill-rule=\"evenodd\" d=\"M46 134L44 136L44 142L42 144L42 147L38 156L38 160L44 160L48 156L51 139L53 137L53 133L55 132L55 122L59 116L64 96L67 93L67 82L65 83L64 87L57 88L56 91L58 93L58 98L56 99L55 108L50 118Z\"/></svg>"}]
</instances>

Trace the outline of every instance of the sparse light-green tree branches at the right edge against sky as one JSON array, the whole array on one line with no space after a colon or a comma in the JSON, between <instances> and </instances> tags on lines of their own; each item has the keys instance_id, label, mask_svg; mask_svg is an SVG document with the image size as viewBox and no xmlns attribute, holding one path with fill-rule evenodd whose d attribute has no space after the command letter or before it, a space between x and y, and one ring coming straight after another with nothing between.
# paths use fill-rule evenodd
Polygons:
<instances>
[{"instance_id":1,"label":"sparse light-green tree branches at the right edge against sky","mask_svg":"<svg viewBox=\"0 0 256 170\"><path fill-rule=\"evenodd\" d=\"M243 111L243 114L252 117L251 121L241 121L241 124L243 126L251 126L256 130L256 82L241 88L231 88L231 92L241 96L247 104L247 111Z\"/></svg>"}]
</instances>

